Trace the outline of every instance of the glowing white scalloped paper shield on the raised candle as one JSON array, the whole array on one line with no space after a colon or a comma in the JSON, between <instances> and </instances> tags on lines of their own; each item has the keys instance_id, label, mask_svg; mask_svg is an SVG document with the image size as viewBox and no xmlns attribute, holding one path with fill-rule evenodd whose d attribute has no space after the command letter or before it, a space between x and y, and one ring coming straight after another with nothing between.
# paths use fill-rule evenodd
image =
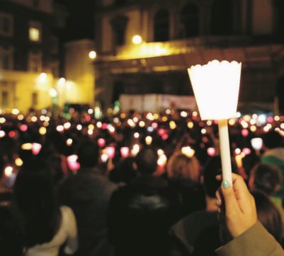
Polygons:
<instances>
[{"instance_id":1,"label":"glowing white scalloped paper shield on the raised candle","mask_svg":"<svg viewBox=\"0 0 284 256\"><path fill-rule=\"evenodd\" d=\"M213 60L188 69L202 120L226 120L237 112L242 63Z\"/></svg>"}]
</instances>

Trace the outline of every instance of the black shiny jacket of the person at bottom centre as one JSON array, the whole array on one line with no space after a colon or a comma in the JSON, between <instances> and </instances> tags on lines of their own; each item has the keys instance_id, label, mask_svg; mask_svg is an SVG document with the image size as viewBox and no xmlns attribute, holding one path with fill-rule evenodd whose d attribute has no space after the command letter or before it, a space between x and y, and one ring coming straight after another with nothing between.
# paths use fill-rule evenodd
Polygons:
<instances>
[{"instance_id":1,"label":"black shiny jacket of the person at bottom centre","mask_svg":"<svg viewBox=\"0 0 284 256\"><path fill-rule=\"evenodd\" d=\"M115 255L166 255L177 204L168 182L152 175L141 175L113 193L108 231Z\"/></svg>"}]
</instances>

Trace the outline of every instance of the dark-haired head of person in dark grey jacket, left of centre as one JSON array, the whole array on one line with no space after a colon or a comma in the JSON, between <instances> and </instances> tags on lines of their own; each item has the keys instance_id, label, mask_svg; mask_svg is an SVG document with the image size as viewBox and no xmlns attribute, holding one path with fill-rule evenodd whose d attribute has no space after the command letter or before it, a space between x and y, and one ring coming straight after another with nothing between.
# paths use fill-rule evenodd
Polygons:
<instances>
[{"instance_id":1,"label":"dark-haired head of person in dark grey jacket, left of centre","mask_svg":"<svg viewBox=\"0 0 284 256\"><path fill-rule=\"evenodd\" d=\"M98 146L91 141L81 144L78 149L78 163L83 168L95 167L98 163Z\"/></svg>"}]
</instances>

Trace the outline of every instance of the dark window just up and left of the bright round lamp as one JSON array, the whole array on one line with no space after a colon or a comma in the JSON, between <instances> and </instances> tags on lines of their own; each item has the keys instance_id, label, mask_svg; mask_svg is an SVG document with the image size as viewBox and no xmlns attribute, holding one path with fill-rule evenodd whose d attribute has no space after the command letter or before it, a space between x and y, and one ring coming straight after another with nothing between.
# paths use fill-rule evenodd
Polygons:
<instances>
[{"instance_id":1,"label":"dark window just up and left of the bright round lamp","mask_svg":"<svg viewBox=\"0 0 284 256\"><path fill-rule=\"evenodd\" d=\"M113 39L116 46L125 44L125 30L128 18L125 16L118 16L110 21L113 28Z\"/></svg>"}]
</instances>

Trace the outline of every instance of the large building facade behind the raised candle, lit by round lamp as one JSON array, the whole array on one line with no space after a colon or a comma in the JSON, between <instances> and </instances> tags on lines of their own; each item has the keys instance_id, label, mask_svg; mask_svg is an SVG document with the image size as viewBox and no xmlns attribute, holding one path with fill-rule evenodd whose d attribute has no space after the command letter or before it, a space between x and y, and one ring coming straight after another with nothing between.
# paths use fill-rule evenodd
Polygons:
<instances>
[{"instance_id":1,"label":"large building facade behind the raised candle, lit by round lamp","mask_svg":"<svg viewBox=\"0 0 284 256\"><path fill-rule=\"evenodd\" d=\"M227 59L242 62L241 104L284 112L283 11L281 0L98 1L96 100L192 95L188 67Z\"/></svg>"}]
</instances>

